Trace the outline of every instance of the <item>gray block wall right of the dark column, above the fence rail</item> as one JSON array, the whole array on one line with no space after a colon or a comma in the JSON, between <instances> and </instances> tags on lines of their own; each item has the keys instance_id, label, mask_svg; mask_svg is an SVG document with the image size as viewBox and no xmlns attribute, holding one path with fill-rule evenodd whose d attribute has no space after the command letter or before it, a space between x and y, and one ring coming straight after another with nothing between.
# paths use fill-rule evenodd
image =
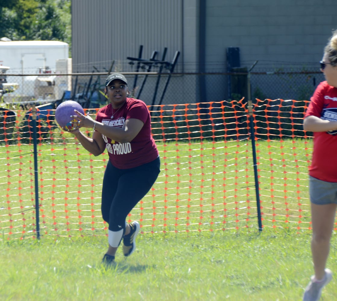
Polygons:
<instances>
[{"instance_id":1,"label":"gray block wall right of the dark column, above the fence rail","mask_svg":"<svg viewBox=\"0 0 337 301\"><path fill-rule=\"evenodd\" d=\"M335 0L207 0L207 69L225 70L225 49L250 65L316 64L333 29ZM216 62L222 62L217 64Z\"/></svg>"}]
</instances>

